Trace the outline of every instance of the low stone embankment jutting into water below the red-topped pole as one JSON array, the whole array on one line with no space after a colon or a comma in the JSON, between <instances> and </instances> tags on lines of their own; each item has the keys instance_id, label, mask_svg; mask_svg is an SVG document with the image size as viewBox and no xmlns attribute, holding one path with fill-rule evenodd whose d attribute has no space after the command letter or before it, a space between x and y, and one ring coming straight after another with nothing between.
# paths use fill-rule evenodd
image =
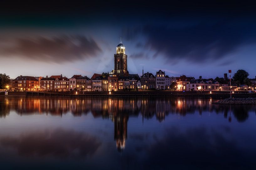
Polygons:
<instances>
[{"instance_id":1,"label":"low stone embankment jutting into water below the red-topped pole","mask_svg":"<svg viewBox=\"0 0 256 170\"><path fill-rule=\"evenodd\" d=\"M215 104L256 104L256 98L228 98L219 100Z\"/></svg>"}]
</instances>

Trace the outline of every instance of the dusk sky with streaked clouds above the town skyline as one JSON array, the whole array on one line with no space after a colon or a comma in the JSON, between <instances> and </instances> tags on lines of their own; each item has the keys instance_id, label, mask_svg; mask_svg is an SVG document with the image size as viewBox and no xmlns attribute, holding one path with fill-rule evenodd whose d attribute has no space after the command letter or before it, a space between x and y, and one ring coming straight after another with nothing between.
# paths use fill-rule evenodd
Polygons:
<instances>
[{"instance_id":1,"label":"dusk sky with streaked clouds above the town skyline","mask_svg":"<svg viewBox=\"0 0 256 170\"><path fill-rule=\"evenodd\" d=\"M256 10L249 3L3 2L0 73L71 77L111 71L122 37L131 74L256 75Z\"/></svg>"}]
</instances>

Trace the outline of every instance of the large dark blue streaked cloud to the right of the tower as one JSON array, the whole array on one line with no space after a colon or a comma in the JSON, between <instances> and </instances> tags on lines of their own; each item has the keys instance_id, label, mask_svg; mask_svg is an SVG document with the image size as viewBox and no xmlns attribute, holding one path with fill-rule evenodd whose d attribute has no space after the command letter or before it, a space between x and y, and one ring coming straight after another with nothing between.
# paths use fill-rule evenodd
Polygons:
<instances>
[{"instance_id":1,"label":"large dark blue streaked cloud to the right of the tower","mask_svg":"<svg viewBox=\"0 0 256 170\"><path fill-rule=\"evenodd\" d=\"M190 21L189 18L176 18L161 20L160 24L126 28L123 34L131 41L144 36L146 40L141 46L152 51L153 57L163 55L173 61L185 59L197 63L222 59L240 46L256 41L253 17L190 18Z\"/></svg>"}]
</instances>

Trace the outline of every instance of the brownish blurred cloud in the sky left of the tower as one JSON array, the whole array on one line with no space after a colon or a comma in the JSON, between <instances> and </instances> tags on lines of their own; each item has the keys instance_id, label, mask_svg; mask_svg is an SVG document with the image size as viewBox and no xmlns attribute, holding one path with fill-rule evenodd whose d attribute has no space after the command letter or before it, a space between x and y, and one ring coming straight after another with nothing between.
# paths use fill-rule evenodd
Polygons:
<instances>
[{"instance_id":1,"label":"brownish blurred cloud in the sky left of the tower","mask_svg":"<svg viewBox=\"0 0 256 170\"><path fill-rule=\"evenodd\" d=\"M3 57L23 57L24 59L45 62L72 62L95 57L102 50L92 38L81 35L6 40L0 46Z\"/></svg>"}]
</instances>

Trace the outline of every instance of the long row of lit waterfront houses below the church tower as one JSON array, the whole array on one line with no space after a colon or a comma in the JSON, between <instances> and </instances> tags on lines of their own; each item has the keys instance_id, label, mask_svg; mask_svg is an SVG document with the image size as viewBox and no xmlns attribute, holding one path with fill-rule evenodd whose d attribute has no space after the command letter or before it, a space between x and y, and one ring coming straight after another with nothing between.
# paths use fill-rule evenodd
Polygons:
<instances>
[{"instance_id":1,"label":"long row of lit waterfront houses below the church tower","mask_svg":"<svg viewBox=\"0 0 256 170\"><path fill-rule=\"evenodd\" d=\"M225 80L225 74L224 78ZM254 90L256 77L251 79L252 87L247 85L237 86L235 81L231 85L220 84L213 79L199 79L181 75L169 77L165 71L159 70L155 75L144 73L129 74L128 76L94 74L91 78L82 75L73 75L67 78L61 75L50 77L18 76L11 80L8 86L13 90L27 91L118 91L118 90L177 90L177 91L230 91L230 90ZM175 87L171 86L175 85Z\"/></svg>"}]
</instances>

